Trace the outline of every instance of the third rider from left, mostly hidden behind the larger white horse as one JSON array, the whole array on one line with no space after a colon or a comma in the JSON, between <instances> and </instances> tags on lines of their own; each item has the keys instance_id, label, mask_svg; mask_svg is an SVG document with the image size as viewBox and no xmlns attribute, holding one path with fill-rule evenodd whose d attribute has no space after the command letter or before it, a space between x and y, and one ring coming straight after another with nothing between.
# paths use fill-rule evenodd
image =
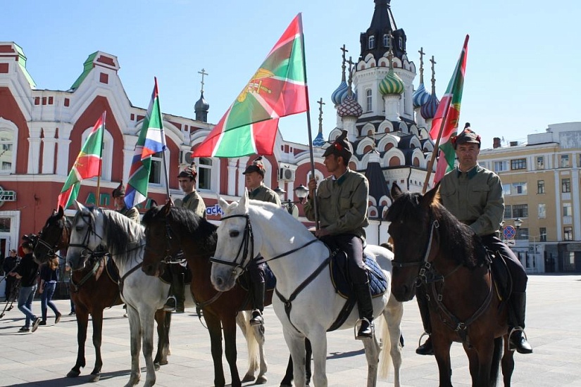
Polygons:
<instances>
[{"instance_id":1,"label":"third rider from left, mostly hidden behind the larger white horse","mask_svg":"<svg viewBox=\"0 0 581 387\"><path fill-rule=\"evenodd\" d=\"M280 203L280 197L275 191L264 185L264 172L265 167L262 162L262 156L258 156L252 164L246 167L246 170L242 172L242 175L245 177L246 188L248 189L248 197L255 201L275 203L280 207L282 205ZM266 291L265 265L265 263L257 265L256 260L252 260L248 265L252 300L254 303L254 305L252 305L252 315L250 317L251 326L264 324L262 312L264 310L264 293Z\"/></svg>"}]
</instances>

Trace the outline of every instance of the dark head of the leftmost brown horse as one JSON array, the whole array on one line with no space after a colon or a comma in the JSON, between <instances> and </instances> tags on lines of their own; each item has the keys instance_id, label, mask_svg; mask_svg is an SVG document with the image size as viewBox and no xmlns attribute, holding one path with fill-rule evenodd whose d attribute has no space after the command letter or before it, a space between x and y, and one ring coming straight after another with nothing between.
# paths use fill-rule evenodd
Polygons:
<instances>
[{"instance_id":1,"label":"dark head of the leftmost brown horse","mask_svg":"<svg viewBox=\"0 0 581 387\"><path fill-rule=\"evenodd\" d=\"M39 264L45 263L57 255L58 250L68 246L70 224L64 216L64 210L59 205L58 211L53 210L51 216L39 233L39 238L32 255Z\"/></svg>"}]
</instances>

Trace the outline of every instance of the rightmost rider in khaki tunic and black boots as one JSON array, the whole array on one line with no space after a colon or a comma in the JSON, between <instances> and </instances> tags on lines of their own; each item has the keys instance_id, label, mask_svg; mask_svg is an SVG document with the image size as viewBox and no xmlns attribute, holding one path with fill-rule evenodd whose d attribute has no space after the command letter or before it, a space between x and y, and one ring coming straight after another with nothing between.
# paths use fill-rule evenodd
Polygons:
<instances>
[{"instance_id":1,"label":"rightmost rider in khaki tunic and black boots","mask_svg":"<svg viewBox=\"0 0 581 387\"><path fill-rule=\"evenodd\" d=\"M504 196L500 177L478 165L480 136L470 130L470 124L467 123L463 132L453 137L451 141L456 150L458 167L448 172L440 181L439 193L442 205L460 222L473 229L480 236L487 250L498 251L504 257L513 281L509 306L514 317L509 317L508 321L511 349L516 349L518 353L532 353L532 348L523 331L525 329L527 273L512 250L497 236L504 216ZM418 288L416 298L425 332L430 335L432 333L430 310L427 307L425 294L420 288ZM511 313L508 315L510 316ZM434 354L430 337L416 349L416 353Z\"/></svg>"}]
</instances>

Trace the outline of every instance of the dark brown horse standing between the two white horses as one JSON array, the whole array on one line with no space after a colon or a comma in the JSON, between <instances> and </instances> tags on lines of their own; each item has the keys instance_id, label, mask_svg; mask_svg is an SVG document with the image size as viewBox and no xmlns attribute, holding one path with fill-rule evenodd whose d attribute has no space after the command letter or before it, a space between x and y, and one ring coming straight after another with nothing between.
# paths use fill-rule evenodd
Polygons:
<instances>
[{"instance_id":1,"label":"dark brown horse standing between the two white horses","mask_svg":"<svg viewBox=\"0 0 581 387\"><path fill-rule=\"evenodd\" d=\"M145 225L146 248L142 270L149 275L160 275L165 267L165 260L180 251L183 251L192 272L190 290L201 310L204 310L204 319L210 333L211 352L214 361L215 386L224 386L224 372L222 366L222 332L224 332L225 355L230 365L232 386L241 386L236 367L236 325L237 312L250 310L250 295L242 286L237 285L226 294L215 291L210 282L210 256L215 251L215 225L198 217L194 212L183 208L175 208L168 203L163 207L151 208L143 217ZM272 303L273 292L265 294L265 305ZM263 344L263 331L256 335L259 343ZM262 346L262 345L261 345ZM256 383L265 383L266 363L261 351L260 374ZM310 359L310 354L308 354ZM310 376L310 362L308 376ZM254 380L246 373L242 381ZM292 380L291 371L283 379L282 385L289 385Z\"/></svg>"}]
</instances>

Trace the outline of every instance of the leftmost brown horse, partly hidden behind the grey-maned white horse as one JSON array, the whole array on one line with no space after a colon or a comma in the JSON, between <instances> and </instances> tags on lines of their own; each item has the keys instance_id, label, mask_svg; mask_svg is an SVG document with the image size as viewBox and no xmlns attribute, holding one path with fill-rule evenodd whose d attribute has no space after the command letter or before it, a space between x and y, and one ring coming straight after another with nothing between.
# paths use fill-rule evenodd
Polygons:
<instances>
[{"instance_id":1,"label":"leftmost brown horse, partly hidden behind the grey-maned white horse","mask_svg":"<svg viewBox=\"0 0 581 387\"><path fill-rule=\"evenodd\" d=\"M34 256L39 263L44 263L50 257L58 256L61 250L68 248L70 238L70 221L64 216L63 208L53 211L46 220L35 246ZM67 376L79 376L81 367L85 367L85 341L87 341L87 326L89 315L93 322L93 345L95 348L95 365L89 381L99 381L101 377L101 334L103 331L103 310L106 307L122 304L119 286L105 272L104 256L90 258L92 261L84 269L70 274L70 298L75 303L77 317L77 362ZM111 262L113 263L113 262ZM114 264L113 264L114 266ZM115 267L116 271L116 267ZM118 276L117 276L118 277ZM155 357L156 369L168 364L169 331L171 313L163 310L156 312L158 349Z\"/></svg>"}]
</instances>

